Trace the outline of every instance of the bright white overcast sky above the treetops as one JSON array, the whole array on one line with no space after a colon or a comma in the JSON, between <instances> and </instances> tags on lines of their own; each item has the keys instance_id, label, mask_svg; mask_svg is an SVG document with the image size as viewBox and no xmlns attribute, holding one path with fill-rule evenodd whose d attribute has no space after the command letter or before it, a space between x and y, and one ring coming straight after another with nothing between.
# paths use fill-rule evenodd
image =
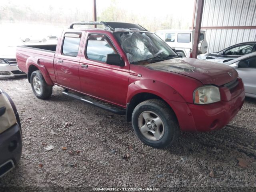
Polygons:
<instances>
[{"instance_id":1,"label":"bright white overcast sky above the treetops","mask_svg":"<svg viewBox=\"0 0 256 192\"><path fill-rule=\"evenodd\" d=\"M49 5L53 7L61 6L64 10L70 8L84 9L92 12L93 0L1 0L0 4L29 5L32 9L48 9ZM97 14L99 15L106 7L111 4L112 0L96 0ZM192 22L194 0L115 0L120 7L125 7L130 12L139 13L142 16L164 16L167 12L173 15L182 16Z\"/></svg>"}]
</instances>

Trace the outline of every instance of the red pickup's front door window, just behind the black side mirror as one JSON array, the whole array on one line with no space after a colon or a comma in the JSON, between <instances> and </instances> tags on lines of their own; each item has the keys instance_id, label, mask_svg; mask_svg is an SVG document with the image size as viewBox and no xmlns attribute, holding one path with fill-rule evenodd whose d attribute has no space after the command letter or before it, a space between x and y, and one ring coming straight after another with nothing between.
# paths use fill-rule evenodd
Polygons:
<instances>
[{"instance_id":1,"label":"red pickup's front door window, just behind the black side mirror","mask_svg":"<svg viewBox=\"0 0 256 192\"><path fill-rule=\"evenodd\" d=\"M106 62L107 54L117 53L110 39L102 34L88 37L86 56L88 59Z\"/></svg>"}]
</instances>

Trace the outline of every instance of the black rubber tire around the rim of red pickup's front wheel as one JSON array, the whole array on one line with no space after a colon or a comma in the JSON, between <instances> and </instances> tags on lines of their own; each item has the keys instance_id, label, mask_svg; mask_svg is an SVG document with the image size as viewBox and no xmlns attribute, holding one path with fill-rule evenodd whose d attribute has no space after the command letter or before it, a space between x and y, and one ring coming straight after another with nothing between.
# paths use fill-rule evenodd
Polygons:
<instances>
[{"instance_id":1,"label":"black rubber tire around the rim of red pickup's front wheel","mask_svg":"<svg viewBox=\"0 0 256 192\"><path fill-rule=\"evenodd\" d=\"M140 114L145 111L154 112L162 120L164 133L159 140L150 140L140 131L139 117ZM172 144L180 134L180 128L174 112L168 104L157 99L146 100L134 108L134 111L132 112L132 127L142 142L154 148L166 148Z\"/></svg>"}]
</instances>

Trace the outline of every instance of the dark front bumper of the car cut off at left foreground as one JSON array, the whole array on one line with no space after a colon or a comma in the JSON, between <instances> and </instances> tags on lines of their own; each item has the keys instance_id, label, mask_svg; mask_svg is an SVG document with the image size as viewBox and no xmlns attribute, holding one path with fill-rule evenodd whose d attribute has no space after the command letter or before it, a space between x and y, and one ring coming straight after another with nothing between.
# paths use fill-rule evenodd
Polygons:
<instances>
[{"instance_id":1,"label":"dark front bumper of the car cut off at left foreground","mask_svg":"<svg viewBox=\"0 0 256 192\"><path fill-rule=\"evenodd\" d=\"M0 134L0 177L18 164L21 154L21 131L20 126L15 124Z\"/></svg>"}]
</instances>

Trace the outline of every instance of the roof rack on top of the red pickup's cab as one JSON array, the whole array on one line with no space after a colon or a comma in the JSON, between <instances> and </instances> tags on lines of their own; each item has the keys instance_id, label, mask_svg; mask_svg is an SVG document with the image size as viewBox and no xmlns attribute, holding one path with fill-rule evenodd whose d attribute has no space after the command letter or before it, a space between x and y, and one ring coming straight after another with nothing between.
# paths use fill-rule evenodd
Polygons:
<instances>
[{"instance_id":1,"label":"roof rack on top of the red pickup's cab","mask_svg":"<svg viewBox=\"0 0 256 192\"><path fill-rule=\"evenodd\" d=\"M97 21L97 22L93 22L93 21L89 21L89 22L85 22L85 21L73 22L70 25L70 29L73 29L74 25L103 25L105 28L108 28L111 31L115 31L115 29L118 29L118 28L131 29L131 30L137 29L137 30L140 30L140 31L148 31L144 27L142 27L142 26L140 26L138 24L123 23L123 22L103 22L103 21Z\"/></svg>"}]
</instances>

